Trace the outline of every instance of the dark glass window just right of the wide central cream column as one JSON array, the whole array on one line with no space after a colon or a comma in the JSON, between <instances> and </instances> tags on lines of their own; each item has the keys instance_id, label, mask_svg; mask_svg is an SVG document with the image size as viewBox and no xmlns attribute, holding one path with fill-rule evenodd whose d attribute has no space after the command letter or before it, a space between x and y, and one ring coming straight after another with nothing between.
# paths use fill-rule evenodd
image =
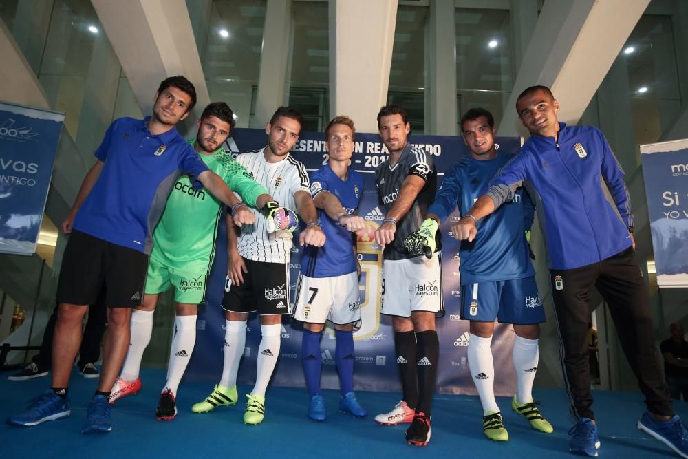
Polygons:
<instances>
[{"instance_id":1,"label":"dark glass window just right of the wide central cream column","mask_svg":"<svg viewBox=\"0 0 688 459\"><path fill-rule=\"evenodd\" d=\"M428 17L427 7L398 7L387 92L387 103L405 109L412 131L418 134L425 132Z\"/></svg>"}]
</instances>

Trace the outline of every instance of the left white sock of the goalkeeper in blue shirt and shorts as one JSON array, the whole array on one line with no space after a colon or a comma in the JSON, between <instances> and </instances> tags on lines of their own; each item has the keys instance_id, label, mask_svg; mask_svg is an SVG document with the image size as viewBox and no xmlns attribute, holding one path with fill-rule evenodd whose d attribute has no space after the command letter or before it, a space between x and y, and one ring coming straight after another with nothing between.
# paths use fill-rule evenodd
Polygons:
<instances>
[{"instance_id":1,"label":"left white sock of the goalkeeper in blue shirt and shorts","mask_svg":"<svg viewBox=\"0 0 688 459\"><path fill-rule=\"evenodd\" d=\"M471 377L480 396L483 416L488 411L499 412L495 400L495 363L490 349L491 342L492 337L482 338L471 333L468 349Z\"/></svg>"}]
</instances>

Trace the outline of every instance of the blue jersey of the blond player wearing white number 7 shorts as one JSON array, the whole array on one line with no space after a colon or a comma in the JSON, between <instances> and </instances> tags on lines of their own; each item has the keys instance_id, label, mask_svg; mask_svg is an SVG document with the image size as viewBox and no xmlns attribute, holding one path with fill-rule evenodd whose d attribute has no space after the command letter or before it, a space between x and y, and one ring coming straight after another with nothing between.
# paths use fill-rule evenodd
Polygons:
<instances>
[{"instance_id":1,"label":"blue jersey of the blond player wearing white number 7 shorts","mask_svg":"<svg viewBox=\"0 0 688 459\"><path fill-rule=\"evenodd\" d=\"M363 195L363 176L349 169L347 180L332 171L330 164L310 174L310 189L315 198L322 191L329 191L341 202L350 215L358 209ZM308 277L334 277L353 273L356 270L352 233L323 211L319 211L319 223L325 233L325 245L308 246L303 251L301 273Z\"/></svg>"}]
</instances>

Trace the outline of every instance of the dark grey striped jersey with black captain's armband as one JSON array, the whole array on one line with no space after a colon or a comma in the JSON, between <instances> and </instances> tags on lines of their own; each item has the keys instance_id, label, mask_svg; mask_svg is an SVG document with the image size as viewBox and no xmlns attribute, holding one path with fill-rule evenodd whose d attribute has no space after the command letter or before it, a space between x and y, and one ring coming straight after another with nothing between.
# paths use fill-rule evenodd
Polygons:
<instances>
[{"instance_id":1,"label":"dark grey striped jersey with black captain's armband","mask_svg":"<svg viewBox=\"0 0 688 459\"><path fill-rule=\"evenodd\" d=\"M413 258L413 255L409 254L404 246L404 239L414 231L418 231L425 215L427 215L427 211L437 191L437 171L432 156L410 144L401 153L394 167L390 167L389 158L387 158L385 162L375 169L375 184L378 187L380 204L385 206L388 212L398 198L404 180L409 175L417 175L425 180L425 186L418 193L418 197L413 202L408 213L396 222L394 241L385 246L383 259L400 260ZM435 237L437 242L436 251L442 248L440 238L440 231L438 231Z\"/></svg>"}]
</instances>

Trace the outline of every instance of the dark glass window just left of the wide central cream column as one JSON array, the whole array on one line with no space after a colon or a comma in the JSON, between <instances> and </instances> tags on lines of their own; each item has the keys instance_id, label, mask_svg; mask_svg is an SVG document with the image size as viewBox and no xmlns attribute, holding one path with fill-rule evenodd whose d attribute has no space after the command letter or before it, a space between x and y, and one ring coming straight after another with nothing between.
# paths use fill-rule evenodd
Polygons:
<instances>
[{"instance_id":1,"label":"dark glass window just left of the wide central cream column","mask_svg":"<svg viewBox=\"0 0 688 459\"><path fill-rule=\"evenodd\" d=\"M303 131L322 131L330 111L330 17L327 2L292 3L289 105L303 114Z\"/></svg>"}]
</instances>

